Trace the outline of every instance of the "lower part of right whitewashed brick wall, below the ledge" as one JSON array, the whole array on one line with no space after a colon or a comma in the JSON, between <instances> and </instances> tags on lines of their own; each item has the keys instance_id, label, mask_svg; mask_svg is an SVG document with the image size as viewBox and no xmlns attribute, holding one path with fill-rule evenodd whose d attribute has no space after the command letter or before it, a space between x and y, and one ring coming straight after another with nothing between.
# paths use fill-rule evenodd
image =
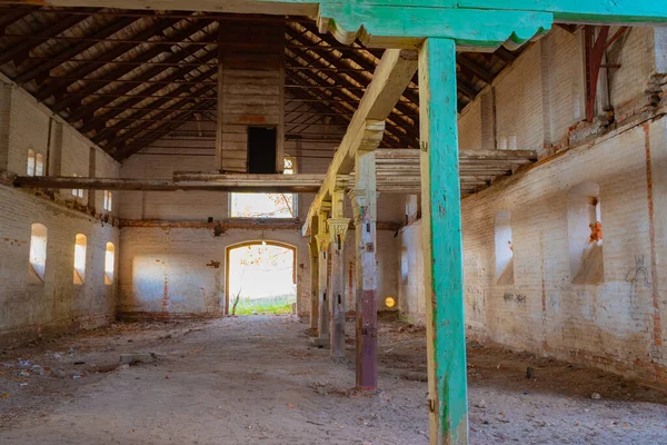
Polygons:
<instances>
[{"instance_id":1,"label":"lower part of right whitewashed brick wall, below the ledge","mask_svg":"<svg viewBox=\"0 0 667 445\"><path fill-rule=\"evenodd\" d=\"M666 135L663 118L573 149L464 199L469 339L667 383L661 346L667 316L661 264L667 254ZM600 188L605 274L598 285L573 285L569 267L567 195L585 181ZM494 218L506 209L512 216L514 285L498 285L495 267ZM406 317L422 320L420 221L401 230L401 254L399 307Z\"/></svg>"}]
</instances>

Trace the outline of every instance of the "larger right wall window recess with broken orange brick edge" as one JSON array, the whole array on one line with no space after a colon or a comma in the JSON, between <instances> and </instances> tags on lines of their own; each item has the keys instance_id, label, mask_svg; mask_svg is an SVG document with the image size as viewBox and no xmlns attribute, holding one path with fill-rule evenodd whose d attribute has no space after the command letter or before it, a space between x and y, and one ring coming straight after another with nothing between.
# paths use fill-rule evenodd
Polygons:
<instances>
[{"instance_id":1,"label":"larger right wall window recess with broken orange brick edge","mask_svg":"<svg viewBox=\"0 0 667 445\"><path fill-rule=\"evenodd\" d=\"M604 283L603 216L599 186L585 182L567 198L569 263L573 284Z\"/></svg>"}]
</instances>

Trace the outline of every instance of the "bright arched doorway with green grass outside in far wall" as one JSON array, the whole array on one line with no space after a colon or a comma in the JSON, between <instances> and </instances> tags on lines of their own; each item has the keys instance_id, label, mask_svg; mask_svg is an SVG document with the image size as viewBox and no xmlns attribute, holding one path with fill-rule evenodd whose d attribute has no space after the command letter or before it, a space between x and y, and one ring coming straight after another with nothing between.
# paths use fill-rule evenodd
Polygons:
<instances>
[{"instance_id":1,"label":"bright arched doorway with green grass outside in far wall","mask_svg":"<svg viewBox=\"0 0 667 445\"><path fill-rule=\"evenodd\" d=\"M226 314L289 314L297 301L297 249L285 243L227 247Z\"/></svg>"}]
</instances>

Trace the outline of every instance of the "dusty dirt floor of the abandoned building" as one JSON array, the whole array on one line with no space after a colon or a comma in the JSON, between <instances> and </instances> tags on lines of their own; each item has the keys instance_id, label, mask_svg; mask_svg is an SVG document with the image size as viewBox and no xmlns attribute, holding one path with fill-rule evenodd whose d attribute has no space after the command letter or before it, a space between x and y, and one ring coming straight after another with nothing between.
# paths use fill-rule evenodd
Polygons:
<instances>
[{"instance_id":1,"label":"dusty dirt floor of the abandoned building","mask_svg":"<svg viewBox=\"0 0 667 445\"><path fill-rule=\"evenodd\" d=\"M382 389L361 395L354 340L332 363L306 327L115 324L0 352L0 444L428 443L424 330L381 323ZM476 345L468 378L471 444L667 444L667 397L631 380Z\"/></svg>"}]
</instances>

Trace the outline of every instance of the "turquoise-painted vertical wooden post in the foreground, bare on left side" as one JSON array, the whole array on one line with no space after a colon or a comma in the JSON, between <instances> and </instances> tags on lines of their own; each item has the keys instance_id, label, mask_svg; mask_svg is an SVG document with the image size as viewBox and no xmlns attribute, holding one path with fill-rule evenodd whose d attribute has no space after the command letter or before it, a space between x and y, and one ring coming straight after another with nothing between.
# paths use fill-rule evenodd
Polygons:
<instances>
[{"instance_id":1,"label":"turquoise-painted vertical wooden post in the foreground, bare on left side","mask_svg":"<svg viewBox=\"0 0 667 445\"><path fill-rule=\"evenodd\" d=\"M419 52L421 234L431 444L466 444L468 406L456 91L456 43Z\"/></svg>"}]
</instances>

